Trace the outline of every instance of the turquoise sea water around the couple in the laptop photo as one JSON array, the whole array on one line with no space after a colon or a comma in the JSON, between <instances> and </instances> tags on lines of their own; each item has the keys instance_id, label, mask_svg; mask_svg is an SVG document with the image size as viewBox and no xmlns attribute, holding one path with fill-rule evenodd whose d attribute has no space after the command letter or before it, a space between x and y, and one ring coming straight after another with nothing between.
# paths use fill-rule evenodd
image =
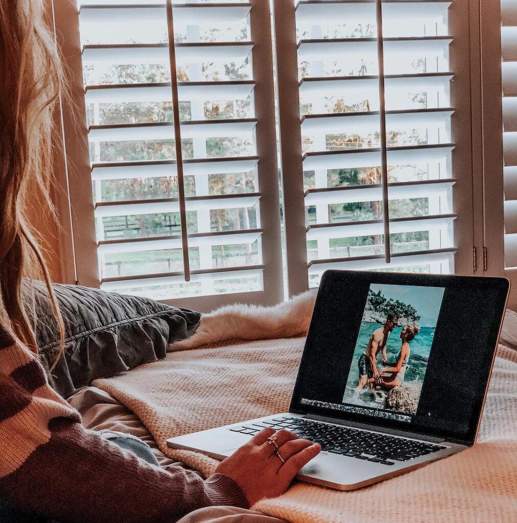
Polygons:
<instances>
[{"instance_id":1,"label":"turquoise sea water around the couple in the laptop photo","mask_svg":"<svg viewBox=\"0 0 517 523\"><path fill-rule=\"evenodd\" d=\"M362 392L357 392L355 390L357 383L359 382L357 360L359 359L359 356L364 353L370 336L372 336L372 333L375 331L375 329L379 327L381 327L381 325L378 323L363 322L361 324L359 335L357 337L357 343L355 345L354 356L352 358L352 366L350 368L349 376L346 380L346 390L343 397L343 403L383 408L382 404L384 403L384 394L374 394L367 388L365 388ZM396 327L388 337L386 351L388 355L388 361L390 363L396 362L396 357L402 344L400 339L402 328L403 326ZM422 389L422 382L424 380L425 370L429 360L429 353L433 344L433 336L434 328L421 327L420 332L410 343L411 353L406 369L406 374L404 376L404 384L411 386L418 392L420 392ZM377 366L381 367L380 355L377 359Z\"/></svg>"}]
</instances>

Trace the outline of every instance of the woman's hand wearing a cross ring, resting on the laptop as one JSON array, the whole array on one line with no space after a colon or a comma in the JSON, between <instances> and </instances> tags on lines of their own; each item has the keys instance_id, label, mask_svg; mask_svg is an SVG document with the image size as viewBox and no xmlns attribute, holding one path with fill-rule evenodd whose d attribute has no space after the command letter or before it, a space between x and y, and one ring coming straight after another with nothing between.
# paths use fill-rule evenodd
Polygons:
<instances>
[{"instance_id":1,"label":"woman's hand wearing a cross ring, resting on the laptop","mask_svg":"<svg viewBox=\"0 0 517 523\"><path fill-rule=\"evenodd\" d=\"M273 453L275 447L267 441L272 436L276 437L278 452L285 463ZM289 430L275 432L272 428L265 428L221 461L216 472L231 477L253 506L263 498L283 494L299 470L320 450L320 444L300 439Z\"/></svg>"}]
</instances>

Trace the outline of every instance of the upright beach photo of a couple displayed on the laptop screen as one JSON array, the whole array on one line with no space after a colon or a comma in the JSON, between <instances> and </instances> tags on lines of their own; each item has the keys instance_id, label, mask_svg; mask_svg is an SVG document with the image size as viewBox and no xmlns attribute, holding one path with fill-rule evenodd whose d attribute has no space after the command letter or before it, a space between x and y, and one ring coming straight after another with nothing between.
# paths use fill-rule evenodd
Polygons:
<instances>
[{"instance_id":1,"label":"upright beach photo of a couple displayed on the laptop screen","mask_svg":"<svg viewBox=\"0 0 517 523\"><path fill-rule=\"evenodd\" d=\"M417 413L444 291L370 285L343 403L392 411L384 417Z\"/></svg>"}]
</instances>

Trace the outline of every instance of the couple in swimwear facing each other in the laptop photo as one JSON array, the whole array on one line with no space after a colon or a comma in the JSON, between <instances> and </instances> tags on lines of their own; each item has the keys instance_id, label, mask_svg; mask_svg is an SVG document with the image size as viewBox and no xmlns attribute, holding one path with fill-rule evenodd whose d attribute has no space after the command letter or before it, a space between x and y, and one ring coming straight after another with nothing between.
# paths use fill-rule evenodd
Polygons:
<instances>
[{"instance_id":1,"label":"couple in swimwear facing each other in the laptop photo","mask_svg":"<svg viewBox=\"0 0 517 523\"><path fill-rule=\"evenodd\" d=\"M411 347L409 343L419 333L420 328L415 325L406 325L400 333L402 345L397 355L395 363L388 363L386 354L386 343L393 329L398 324L398 316L394 313L387 315L383 327L375 329L369 339L364 354L359 357L357 365L359 367L359 384L357 388L362 390L366 383L370 389L380 386L381 389L390 390L401 385L404 381L404 374L409 361ZM380 370L377 368L377 356L382 353L383 360Z\"/></svg>"}]
</instances>

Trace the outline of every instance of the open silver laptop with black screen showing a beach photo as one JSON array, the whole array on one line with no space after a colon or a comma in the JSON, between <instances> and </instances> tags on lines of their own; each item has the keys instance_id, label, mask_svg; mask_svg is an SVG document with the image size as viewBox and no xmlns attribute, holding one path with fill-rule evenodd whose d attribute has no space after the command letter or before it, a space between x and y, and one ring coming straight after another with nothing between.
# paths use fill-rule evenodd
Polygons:
<instances>
[{"instance_id":1,"label":"open silver laptop with black screen showing a beach photo","mask_svg":"<svg viewBox=\"0 0 517 523\"><path fill-rule=\"evenodd\" d=\"M289 412L167 440L230 456L264 427L322 450L298 479L354 490L475 444L509 281L324 272ZM235 401L239 401L236 397Z\"/></svg>"}]
</instances>

